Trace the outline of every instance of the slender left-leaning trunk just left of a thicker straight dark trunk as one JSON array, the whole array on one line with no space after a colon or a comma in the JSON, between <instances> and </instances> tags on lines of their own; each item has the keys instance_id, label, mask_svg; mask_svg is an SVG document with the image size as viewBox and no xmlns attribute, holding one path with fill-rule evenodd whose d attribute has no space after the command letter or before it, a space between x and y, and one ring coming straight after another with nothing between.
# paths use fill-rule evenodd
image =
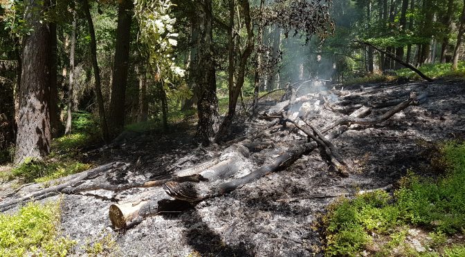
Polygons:
<instances>
[{"instance_id":1,"label":"slender left-leaning trunk just left of a thicker straight dark trunk","mask_svg":"<svg viewBox=\"0 0 465 257\"><path fill-rule=\"evenodd\" d=\"M89 34L91 35L91 61L93 66L93 75L95 77L95 95L97 96L98 115L100 116L100 128L102 129L102 136L105 142L109 142L109 132L107 125L107 117L105 116L105 106L102 96L102 82L100 81L100 68L98 68L97 61L97 43L95 41L95 30L93 28L93 21L91 11L89 10L89 0L82 0L82 8L86 15L87 23L89 24Z\"/></svg>"}]
</instances>

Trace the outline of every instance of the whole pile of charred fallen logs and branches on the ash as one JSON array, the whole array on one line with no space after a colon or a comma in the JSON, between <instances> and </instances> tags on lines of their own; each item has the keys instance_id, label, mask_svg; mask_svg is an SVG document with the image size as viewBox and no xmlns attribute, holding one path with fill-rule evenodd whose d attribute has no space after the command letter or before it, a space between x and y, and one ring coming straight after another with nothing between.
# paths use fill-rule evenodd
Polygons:
<instances>
[{"instance_id":1,"label":"whole pile of charred fallen logs and branches on the ash","mask_svg":"<svg viewBox=\"0 0 465 257\"><path fill-rule=\"evenodd\" d=\"M401 101L376 105L369 102L348 101L345 97L350 97L350 93L337 91L334 88L300 97L293 92L290 99L279 102L260 113L260 120L270 121L267 128L255 135L227 142L226 149L206 162L172 171L157 180L126 184L109 184L92 180L104 173L128 169L129 164L112 162L62 179L61 184L54 187L12 198L0 204L0 211L10 209L21 202L57 193L79 194L94 190L118 193L134 188L151 188L149 194L140 194L138 198L120 201L109 207L112 225L116 229L125 229L136 225L147 216L174 209L182 210L208 198L230 193L268 173L286 169L295 160L314 149L320 149L320 153L327 158L329 165L340 175L347 177L351 173L351 167L338 153L333 140L344 131L356 126L372 126L384 122L410 105L421 104L426 100L427 95L411 92ZM386 108L386 106L392 108L378 117L367 117L373 108ZM342 107L344 111L340 111ZM320 122L329 125L319 127L311 125L311 120L317 117L321 119L322 111L333 113L332 120ZM349 111L350 114L347 115ZM296 138L300 139L294 142L273 142L271 135L273 131L278 130L295 133Z\"/></svg>"}]
</instances>

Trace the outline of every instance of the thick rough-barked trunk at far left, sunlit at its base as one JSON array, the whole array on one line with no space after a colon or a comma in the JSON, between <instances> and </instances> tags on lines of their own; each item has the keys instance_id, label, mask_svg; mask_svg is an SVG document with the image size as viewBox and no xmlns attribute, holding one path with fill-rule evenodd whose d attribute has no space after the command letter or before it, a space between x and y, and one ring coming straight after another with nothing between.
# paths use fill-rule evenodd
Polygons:
<instances>
[{"instance_id":1,"label":"thick rough-barked trunk at far left, sunlit at its base","mask_svg":"<svg viewBox=\"0 0 465 257\"><path fill-rule=\"evenodd\" d=\"M44 158L50 153L51 31L42 12L48 1L25 0L25 19L33 30L24 38L23 68L19 87L19 124L15 163Z\"/></svg>"}]
</instances>

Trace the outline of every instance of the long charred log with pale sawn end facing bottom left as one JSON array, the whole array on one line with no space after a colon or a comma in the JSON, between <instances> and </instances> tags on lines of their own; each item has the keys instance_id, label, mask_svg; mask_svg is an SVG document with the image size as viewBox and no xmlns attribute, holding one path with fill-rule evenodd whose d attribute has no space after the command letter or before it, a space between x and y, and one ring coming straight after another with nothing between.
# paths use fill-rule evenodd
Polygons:
<instances>
[{"instance_id":1,"label":"long charred log with pale sawn end facing bottom left","mask_svg":"<svg viewBox=\"0 0 465 257\"><path fill-rule=\"evenodd\" d=\"M370 114L370 108L363 106L354 111L350 116L365 117L368 114ZM331 131L329 135L325 136L325 140L334 140L338 135L347 130L347 128L349 128L349 126L340 126L337 130ZM226 171L221 169L216 169L215 173L210 175L210 179L213 179L208 182L167 182L163 185L163 189L161 189L164 190L164 193L161 193L160 189L156 189L156 193L154 193L151 198L142 198L134 202L111 204L109 209L111 224L116 229L127 229L138 224L138 222L148 216L154 216L164 211L182 210L183 208L190 207L192 204L196 204L207 198L214 198L230 193L238 187L254 182L269 173L285 169L305 153L310 153L313 149L316 149L317 146L318 144L316 144L316 142L298 142L294 144L291 149L283 152L277 156L277 158L274 158L271 162L259 169L241 178L235 178L225 182L222 182L221 179L227 176L221 174L226 174ZM230 173L236 172L237 171L230 171ZM199 173L199 175L208 177L208 175L203 173ZM172 198L175 200L172 200Z\"/></svg>"}]
</instances>

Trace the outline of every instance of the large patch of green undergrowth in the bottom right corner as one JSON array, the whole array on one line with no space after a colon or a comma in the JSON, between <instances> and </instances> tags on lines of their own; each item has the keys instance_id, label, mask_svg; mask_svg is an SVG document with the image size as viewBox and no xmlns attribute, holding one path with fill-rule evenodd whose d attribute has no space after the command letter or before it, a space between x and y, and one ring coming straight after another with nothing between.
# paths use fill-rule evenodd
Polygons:
<instances>
[{"instance_id":1,"label":"large patch of green undergrowth in the bottom right corner","mask_svg":"<svg viewBox=\"0 0 465 257\"><path fill-rule=\"evenodd\" d=\"M440 178L409 172L393 196L374 191L330 204L322 218L327 256L391 256L394 249L400 256L465 256L463 239L462 245L447 240L465 233L465 143L439 149L436 162L446 172ZM419 241L431 251L419 253L408 243L412 228L427 234Z\"/></svg>"}]
</instances>

